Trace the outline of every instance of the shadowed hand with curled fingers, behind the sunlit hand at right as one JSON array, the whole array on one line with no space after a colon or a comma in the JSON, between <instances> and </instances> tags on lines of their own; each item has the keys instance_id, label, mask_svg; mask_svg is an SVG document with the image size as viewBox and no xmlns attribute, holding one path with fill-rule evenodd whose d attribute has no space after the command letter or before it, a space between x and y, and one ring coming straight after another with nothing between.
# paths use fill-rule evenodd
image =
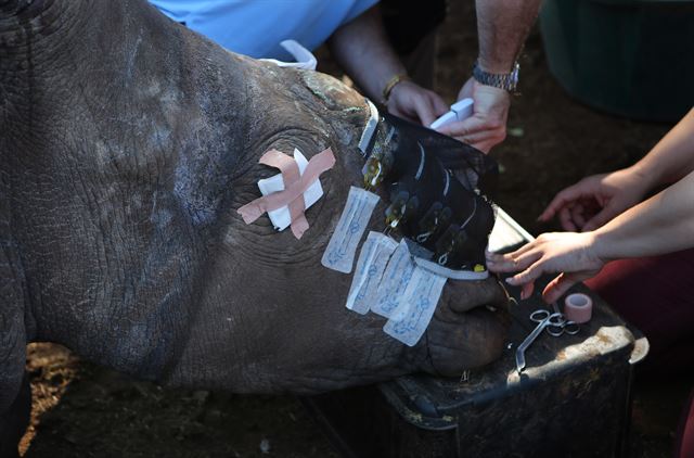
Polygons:
<instances>
[{"instance_id":1,"label":"shadowed hand with curled fingers, behind the sunlit hand at right","mask_svg":"<svg viewBox=\"0 0 694 458\"><path fill-rule=\"evenodd\" d=\"M538 219L549 221L558 214L565 230L591 231L641 202L648 188L646 178L631 168L593 175L557 193Z\"/></svg>"}]
</instances>

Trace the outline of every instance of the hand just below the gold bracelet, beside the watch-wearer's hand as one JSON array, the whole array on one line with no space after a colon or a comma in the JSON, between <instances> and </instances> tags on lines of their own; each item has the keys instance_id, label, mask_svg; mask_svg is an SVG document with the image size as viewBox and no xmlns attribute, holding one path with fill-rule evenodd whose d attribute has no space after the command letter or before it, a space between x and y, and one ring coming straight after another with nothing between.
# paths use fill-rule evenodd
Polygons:
<instances>
[{"instance_id":1,"label":"hand just below the gold bracelet, beside the watch-wearer's hand","mask_svg":"<svg viewBox=\"0 0 694 458\"><path fill-rule=\"evenodd\" d=\"M436 92L415 82L398 82L388 98L388 113L428 127L449 107Z\"/></svg>"}]
</instances>

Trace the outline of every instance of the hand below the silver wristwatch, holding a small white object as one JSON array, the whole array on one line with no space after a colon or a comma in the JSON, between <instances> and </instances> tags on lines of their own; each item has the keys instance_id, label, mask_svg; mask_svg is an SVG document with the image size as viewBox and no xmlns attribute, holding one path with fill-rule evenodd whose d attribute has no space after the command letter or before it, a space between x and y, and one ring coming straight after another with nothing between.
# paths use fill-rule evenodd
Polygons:
<instances>
[{"instance_id":1,"label":"hand below the silver wristwatch, holding a small white object","mask_svg":"<svg viewBox=\"0 0 694 458\"><path fill-rule=\"evenodd\" d=\"M506 138L511 97L507 91L481 85L475 78L470 78L463 85L458 100L467 97L475 102L473 115L467 119L447 124L438 131L488 153Z\"/></svg>"}]
</instances>

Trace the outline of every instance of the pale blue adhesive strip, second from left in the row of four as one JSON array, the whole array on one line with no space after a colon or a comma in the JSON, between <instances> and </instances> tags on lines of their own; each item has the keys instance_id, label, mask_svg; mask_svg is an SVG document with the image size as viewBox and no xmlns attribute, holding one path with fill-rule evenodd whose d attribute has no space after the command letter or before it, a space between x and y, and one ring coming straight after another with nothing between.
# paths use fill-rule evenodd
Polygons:
<instances>
[{"instance_id":1,"label":"pale blue adhesive strip, second from left in the row of four","mask_svg":"<svg viewBox=\"0 0 694 458\"><path fill-rule=\"evenodd\" d=\"M376 298L378 283L398 242L381 232L369 232L347 295L347 308L364 315Z\"/></svg>"}]
</instances>

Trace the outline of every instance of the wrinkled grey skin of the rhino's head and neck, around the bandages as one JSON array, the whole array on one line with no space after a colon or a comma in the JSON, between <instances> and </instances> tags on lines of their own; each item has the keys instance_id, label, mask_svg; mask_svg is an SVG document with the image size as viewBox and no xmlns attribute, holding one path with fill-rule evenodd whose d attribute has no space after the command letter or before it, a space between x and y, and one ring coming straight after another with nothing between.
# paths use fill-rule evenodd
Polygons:
<instances>
[{"instance_id":1,"label":"wrinkled grey skin of the rhino's head and neck, around the bandages","mask_svg":"<svg viewBox=\"0 0 694 458\"><path fill-rule=\"evenodd\" d=\"M360 181L367 118L335 79L231 54L142 1L0 0L0 454L24 428L33 341L255 393L496 358L506 320L493 280L449 282L409 348L347 310L351 277L321 266ZM235 212L277 173L259 156L294 147L337 158L300 241Z\"/></svg>"}]
</instances>

